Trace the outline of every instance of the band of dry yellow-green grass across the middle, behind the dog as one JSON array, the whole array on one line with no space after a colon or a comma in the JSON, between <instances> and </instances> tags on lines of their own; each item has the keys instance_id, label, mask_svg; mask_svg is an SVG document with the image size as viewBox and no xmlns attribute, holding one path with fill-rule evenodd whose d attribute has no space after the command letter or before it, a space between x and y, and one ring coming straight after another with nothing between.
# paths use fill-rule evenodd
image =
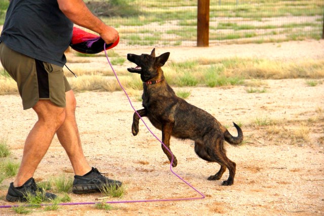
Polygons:
<instances>
[{"instance_id":1,"label":"band of dry yellow-green grass across the middle, behind the dog","mask_svg":"<svg viewBox=\"0 0 324 216\"><path fill-rule=\"evenodd\" d=\"M78 57L78 61L85 61ZM87 58L87 57L84 57ZM89 58L87 58L89 60ZM127 89L142 89L140 76L130 74L125 66L116 66L121 84ZM116 79L109 68L89 68L79 65L70 68L78 78L66 70L65 75L74 91L119 91ZM164 67L166 79L176 86L223 86L237 85L246 81L248 86L260 87L264 79L321 79L324 78L324 60L282 61L257 58L205 59L170 63ZM213 84L214 82L214 84ZM318 82L321 85L322 82ZM265 90L265 88L264 88ZM263 91L264 92L264 91ZM0 95L17 93L16 83L5 74L0 74Z\"/></svg>"}]
</instances>

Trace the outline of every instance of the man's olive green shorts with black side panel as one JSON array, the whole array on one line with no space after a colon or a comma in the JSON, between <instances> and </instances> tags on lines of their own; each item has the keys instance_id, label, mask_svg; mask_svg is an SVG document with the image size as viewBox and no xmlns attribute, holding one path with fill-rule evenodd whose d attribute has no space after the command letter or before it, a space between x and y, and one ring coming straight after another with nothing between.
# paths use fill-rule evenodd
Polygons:
<instances>
[{"instance_id":1,"label":"man's olive green shorts with black side panel","mask_svg":"<svg viewBox=\"0 0 324 216\"><path fill-rule=\"evenodd\" d=\"M33 107L39 99L49 99L65 107L65 92L71 90L63 68L30 58L0 42L0 60L5 70L17 82L23 109Z\"/></svg>"}]
</instances>

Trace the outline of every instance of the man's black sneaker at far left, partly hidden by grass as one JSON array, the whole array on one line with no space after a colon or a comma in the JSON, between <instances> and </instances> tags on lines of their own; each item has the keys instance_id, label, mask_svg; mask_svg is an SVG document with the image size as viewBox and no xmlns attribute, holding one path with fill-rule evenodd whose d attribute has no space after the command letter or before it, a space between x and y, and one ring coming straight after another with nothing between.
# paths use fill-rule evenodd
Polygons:
<instances>
[{"instance_id":1,"label":"man's black sneaker at far left, partly hidden by grass","mask_svg":"<svg viewBox=\"0 0 324 216\"><path fill-rule=\"evenodd\" d=\"M10 183L6 199L9 202L17 202L17 201L26 202L27 201L26 197L29 194L36 196L37 193L38 194L42 193L42 195L44 195L44 198L48 200L53 200L56 198L55 194L51 194L47 192L44 193L43 189L39 188L36 185L35 180L31 177L27 180L27 182L25 182L25 184L23 184L21 187L18 188L14 187L14 183Z\"/></svg>"}]
</instances>

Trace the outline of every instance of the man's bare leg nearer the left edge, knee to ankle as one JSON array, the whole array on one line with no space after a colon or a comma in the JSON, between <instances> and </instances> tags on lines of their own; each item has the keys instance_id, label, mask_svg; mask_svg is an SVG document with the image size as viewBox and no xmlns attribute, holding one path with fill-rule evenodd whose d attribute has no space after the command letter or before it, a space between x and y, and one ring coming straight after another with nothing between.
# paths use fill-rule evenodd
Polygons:
<instances>
[{"instance_id":1,"label":"man's bare leg nearer the left edge, knee to ankle","mask_svg":"<svg viewBox=\"0 0 324 216\"><path fill-rule=\"evenodd\" d=\"M27 136L14 187L22 186L33 176L49 149L55 132L65 119L65 108L54 105L50 100L39 100L32 108L38 116L38 121Z\"/></svg>"}]
</instances>

